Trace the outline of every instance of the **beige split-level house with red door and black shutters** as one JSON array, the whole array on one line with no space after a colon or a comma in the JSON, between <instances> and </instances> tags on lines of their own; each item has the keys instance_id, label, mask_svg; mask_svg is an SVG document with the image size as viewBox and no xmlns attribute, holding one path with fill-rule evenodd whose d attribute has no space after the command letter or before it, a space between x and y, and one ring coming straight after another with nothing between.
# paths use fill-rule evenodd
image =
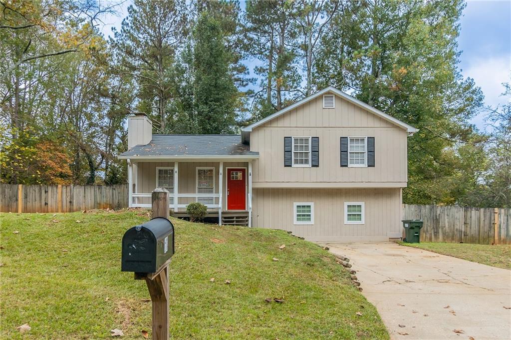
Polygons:
<instances>
[{"instance_id":1,"label":"beige split-level house with red door and black shutters","mask_svg":"<svg viewBox=\"0 0 511 340\"><path fill-rule=\"evenodd\" d=\"M412 126L328 87L241 135L152 134L129 118L129 205L167 188L184 216L199 201L219 224L283 229L313 241L401 237Z\"/></svg>"}]
</instances>

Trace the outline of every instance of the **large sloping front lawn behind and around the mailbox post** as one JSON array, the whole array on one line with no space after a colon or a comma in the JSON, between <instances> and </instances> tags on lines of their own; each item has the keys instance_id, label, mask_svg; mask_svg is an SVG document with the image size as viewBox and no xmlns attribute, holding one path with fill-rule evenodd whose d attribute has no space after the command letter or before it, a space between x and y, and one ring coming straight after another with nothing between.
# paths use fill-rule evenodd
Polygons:
<instances>
[{"instance_id":1,"label":"large sloping front lawn behind and around the mailbox post","mask_svg":"<svg viewBox=\"0 0 511 340\"><path fill-rule=\"evenodd\" d=\"M0 214L0 337L151 333L146 284L121 272L122 236L146 220L144 211ZM389 338L347 271L313 243L284 231L172 221L171 338ZM25 323L32 329L21 335Z\"/></svg>"}]
</instances>

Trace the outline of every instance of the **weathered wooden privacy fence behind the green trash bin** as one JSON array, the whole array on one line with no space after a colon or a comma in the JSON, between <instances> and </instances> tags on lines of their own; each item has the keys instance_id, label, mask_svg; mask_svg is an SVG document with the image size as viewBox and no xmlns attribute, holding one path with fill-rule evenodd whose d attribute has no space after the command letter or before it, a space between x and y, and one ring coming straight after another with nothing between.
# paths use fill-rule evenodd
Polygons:
<instances>
[{"instance_id":1,"label":"weathered wooden privacy fence behind the green trash bin","mask_svg":"<svg viewBox=\"0 0 511 340\"><path fill-rule=\"evenodd\" d=\"M511 243L511 208L403 205L403 219L422 219L421 241Z\"/></svg>"}]
</instances>

